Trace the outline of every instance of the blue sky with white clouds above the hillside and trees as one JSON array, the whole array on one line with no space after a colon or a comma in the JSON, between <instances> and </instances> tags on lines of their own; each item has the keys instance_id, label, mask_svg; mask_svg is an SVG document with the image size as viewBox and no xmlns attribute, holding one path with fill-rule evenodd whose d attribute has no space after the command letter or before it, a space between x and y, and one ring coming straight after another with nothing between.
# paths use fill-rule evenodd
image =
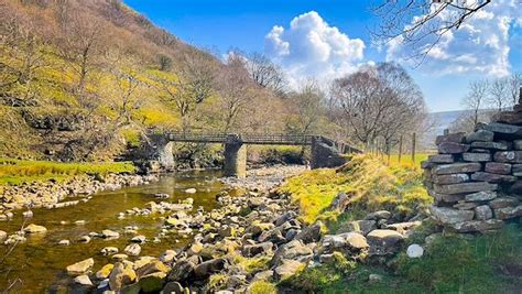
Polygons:
<instances>
[{"instance_id":1,"label":"blue sky with white clouds above the hillside and trees","mask_svg":"<svg viewBox=\"0 0 522 294\"><path fill-rule=\"evenodd\" d=\"M368 30L377 21L369 12L372 1L124 0L193 45L220 54L230 48L265 53L294 80L311 76L327 80L369 62L400 62L421 86L431 111L460 109L472 79L522 70L522 17L513 12L515 1L499 0L470 22L469 30L448 37L439 54L413 67L404 58L407 48L378 50L371 44ZM512 20L509 29L502 25L505 18ZM311 33L317 42L307 40Z\"/></svg>"}]
</instances>

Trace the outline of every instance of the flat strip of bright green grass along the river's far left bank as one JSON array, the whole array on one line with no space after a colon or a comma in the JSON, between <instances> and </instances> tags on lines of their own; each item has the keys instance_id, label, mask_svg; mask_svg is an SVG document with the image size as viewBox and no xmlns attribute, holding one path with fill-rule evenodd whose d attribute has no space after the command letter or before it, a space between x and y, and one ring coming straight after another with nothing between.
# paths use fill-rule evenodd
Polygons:
<instances>
[{"instance_id":1,"label":"flat strip of bright green grass along the river's far left bank","mask_svg":"<svg viewBox=\"0 0 522 294\"><path fill-rule=\"evenodd\" d=\"M0 159L0 185L32 181L63 181L83 174L134 173L131 162L61 163Z\"/></svg>"}]
</instances>

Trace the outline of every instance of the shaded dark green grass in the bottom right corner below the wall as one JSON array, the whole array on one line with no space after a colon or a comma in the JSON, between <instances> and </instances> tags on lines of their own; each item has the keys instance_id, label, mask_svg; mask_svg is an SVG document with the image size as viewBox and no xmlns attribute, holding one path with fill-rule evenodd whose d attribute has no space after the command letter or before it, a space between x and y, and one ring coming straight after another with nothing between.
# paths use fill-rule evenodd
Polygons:
<instances>
[{"instance_id":1,"label":"shaded dark green grass in the bottom right corner below the wall","mask_svg":"<svg viewBox=\"0 0 522 294\"><path fill-rule=\"evenodd\" d=\"M420 259L400 253L389 268L360 263L339 268L342 263L334 262L307 269L279 286L292 293L519 293L521 243L521 225L476 237L441 236ZM382 281L370 283L371 273Z\"/></svg>"}]
</instances>

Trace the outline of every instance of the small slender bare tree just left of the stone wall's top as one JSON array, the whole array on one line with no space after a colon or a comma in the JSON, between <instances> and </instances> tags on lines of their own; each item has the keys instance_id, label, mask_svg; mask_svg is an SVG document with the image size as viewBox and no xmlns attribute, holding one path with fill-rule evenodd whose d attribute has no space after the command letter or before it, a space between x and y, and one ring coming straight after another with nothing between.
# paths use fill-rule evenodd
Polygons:
<instances>
[{"instance_id":1,"label":"small slender bare tree just left of the stone wall's top","mask_svg":"<svg viewBox=\"0 0 522 294\"><path fill-rule=\"evenodd\" d=\"M489 95L489 83L488 80L476 80L471 81L468 86L468 94L464 97L463 105L471 110L470 121L472 129L477 128L480 122L480 115L483 111Z\"/></svg>"}]
</instances>

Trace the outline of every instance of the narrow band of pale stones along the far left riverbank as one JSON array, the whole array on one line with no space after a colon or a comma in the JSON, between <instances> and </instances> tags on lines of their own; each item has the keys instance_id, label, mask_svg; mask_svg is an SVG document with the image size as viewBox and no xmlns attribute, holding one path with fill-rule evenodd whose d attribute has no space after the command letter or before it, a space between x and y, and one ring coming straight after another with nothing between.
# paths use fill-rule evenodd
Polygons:
<instances>
[{"instance_id":1,"label":"narrow band of pale stones along the far left riverbank","mask_svg":"<svg viewBox=\"0 0 522 294\"><path fill-rule=\"evenodd\" d=\"M97 192L145 185L153 181L157 181L156 175L109 174L75 176L64 182L32 182L18 186L0 186L0 220L12 218L12 210L72 206L79 200L88 200L89 196ZM81 198L74 198L79 196Z\"/></svg>"}]
</instances>

